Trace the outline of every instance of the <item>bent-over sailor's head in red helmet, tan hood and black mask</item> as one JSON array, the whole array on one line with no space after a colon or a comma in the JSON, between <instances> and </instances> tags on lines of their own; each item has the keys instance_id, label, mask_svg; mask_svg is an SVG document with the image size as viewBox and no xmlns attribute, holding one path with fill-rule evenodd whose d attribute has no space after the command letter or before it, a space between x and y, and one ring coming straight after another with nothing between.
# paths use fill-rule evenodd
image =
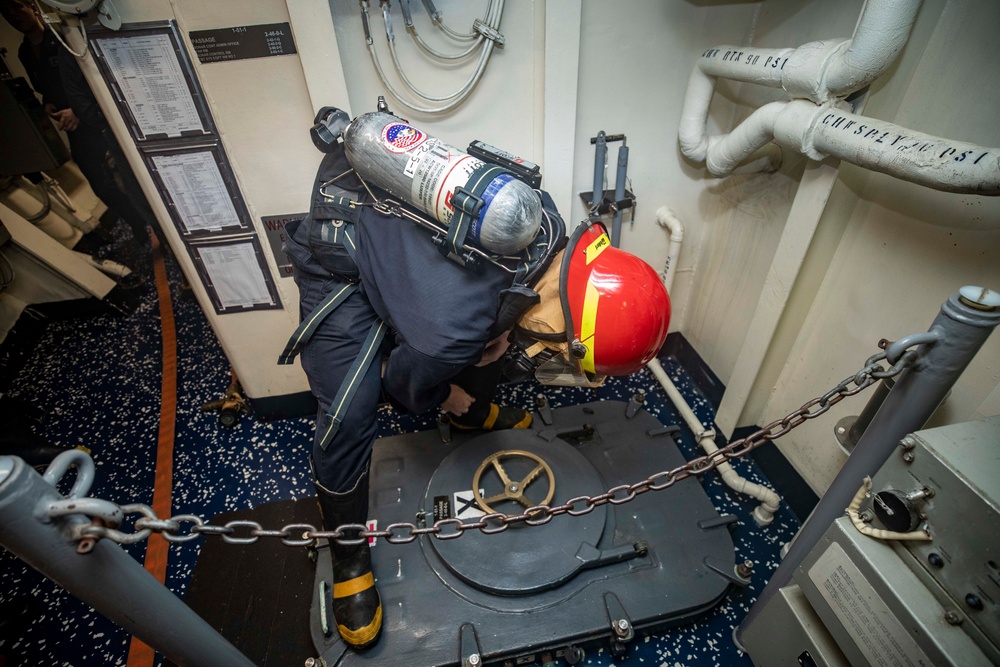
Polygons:
<instances>
[{"instance_id":1,"label":"bent-over sailor's head in red helmet, tan hood and black mask","mask_svg":"<svg viewBox=\"0 0 1000 667\"><path fill-rule=\"evenodd\" d=\"M541 301L514 339L522 374L530 368L542 384L599 386L642 368L666 339L670 298L660 276L613 247L600 224L582 224L535 289Z\"/></svg>"}]
</instances>

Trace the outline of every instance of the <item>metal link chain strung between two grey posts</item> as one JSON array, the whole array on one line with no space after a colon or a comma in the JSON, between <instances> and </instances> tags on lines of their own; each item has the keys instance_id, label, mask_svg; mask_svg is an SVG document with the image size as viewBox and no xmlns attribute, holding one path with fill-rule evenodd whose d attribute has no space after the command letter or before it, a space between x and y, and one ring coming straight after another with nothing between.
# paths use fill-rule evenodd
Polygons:
<instances>
[{"instance_id":1,"label":"metal link chain strung between two grey posts","mask_svg":"<svg viewBox=\"0 0 1000 667\"><path fill-rule=\"evenodd\" d=\"M907 350L899 361L888 370L883 370L879 364L886 358L885 352L873 355L865 362L865 367L856 374L845 378L837 386L818 398L807 401L798 410L794 410L781 419L776 419L767 426L750 435L734 440L711 454L700 456L684 465L663 470L650 475L634 484L621 484L612 487L604 493L595 496L576 496L561 505L538 505L526 509L521 514L486 514L478 521L463 522L461 519L439 519L433 525L420 527L415 523L393 523L381 530L369 530L360 523L349 523L338 526L335 530L318 530L308 523L293 523L279 530L265 530L256 521L229 521L223 525L211 525L193 514L180 514L169 519L160 519L148 505L123 505L121 510L125 515L141 514L135 521L135 532L125 533L117 526L104 525L99 520L93 524L81 526L78 536L81 539L109 539L119 544L140 542L150 534L161 533L168 542L189 542L200 535L219 535L230 544L253 544L261 537L277 537L283 544L292 547L314 545L316 540L326 539L342 545L364 544L369 538L382 538L389 544L409 544L421 535L433 535L439 540L452 540L464 535L467 531L478 530L486 535L502 533L514 524L540 526L548 523L561 514L582 516L593 512L604 504L622 505L649 491L669 489L688 477L698 477L714 470L721 463L746 456L766 442L780 438L792 429L825 414L830 408L848 396L854 396L867 389L882 378L899 375L917 358L916 350ZM185 524L190 524L184 528Z\"/></svg>"}]
</instances>

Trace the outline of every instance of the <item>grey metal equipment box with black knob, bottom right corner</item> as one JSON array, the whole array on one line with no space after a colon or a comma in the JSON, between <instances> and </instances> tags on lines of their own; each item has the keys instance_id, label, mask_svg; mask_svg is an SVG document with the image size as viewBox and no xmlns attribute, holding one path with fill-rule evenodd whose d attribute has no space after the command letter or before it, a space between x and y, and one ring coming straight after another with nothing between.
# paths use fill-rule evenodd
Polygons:
<instances>
[{"instance_id":1,"label":"grey metal equipment box with black knob, bottom right corner","mask_svg":"<svg viewBox=\"0 0 1000 667\"><path fill-rule=\"evenodd\" d=\"M931 540L835 521L745 631L754 664L1000 664L998 445L1000 416L904 438L861 514L873 528L926 527Z\"/></svg>"}]
</instances>

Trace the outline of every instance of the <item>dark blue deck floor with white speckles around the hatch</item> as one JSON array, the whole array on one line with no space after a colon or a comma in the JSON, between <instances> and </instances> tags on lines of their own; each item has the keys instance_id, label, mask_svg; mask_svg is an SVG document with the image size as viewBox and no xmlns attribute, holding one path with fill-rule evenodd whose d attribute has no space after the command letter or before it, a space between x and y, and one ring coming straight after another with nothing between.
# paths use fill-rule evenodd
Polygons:
<instances>
[{"instance_id":1,"label":"dark blue deck floor with white speckles around the hatch","mask_svg":"<svg viewBox=\"0 0 1000 667\"><path fill-rule=\"evenodd\" d=\"M313 495L307 464L311 418L261 423L244 417L236 428L226 430L218 427L215 413L200 411L203 403L220 398L225 391L229 364L200 308L182 289L177 265L168 261L167 269L177 322L178 356L173 513L210 519L220 512ZM39 435L61 445L90 447L97 465L92 496L118 503L148 504L152 501L159 417L160 329L151 264L146 261L138 270L148 276L148 281L141 304L132 315L51 322L29 362L12 382L10 394L47 413L44 424L36 429ZM674 358L662 361L699 418L709 421L715 407ZM561 407L598 399L628 400L638 390L646 392L646 409L650 413L664 424L683 426L646 370L613 378L596 390L542 388L532 383L508 385L501 388L499 398L510 405L527 407L533 405L539 392L544 392L553 407ZM400 415L388 406L380 409L379 421L381 436L436 427L435 415ZM700 454L686 428L682 428L678 444L689 458ZM752 481L767 483L753 462L741 460L733 465ZM658 471L649 471L654 472ZM751 665L749 658L733 646L732 628L777 567L778 551L798 529L799 522L783 506L775 522L761 529L750 519L752 500L729 491L715 475L704 478L703 484L720 514L732 513L741 520L733 538L737 558L755 564L752 585L734 591L695 623L637 637L623 661L612 661L607 651L592 651L583 665ZM669 502L670 490L660 493L663 501ZM191 578L200 544L201 540L196 540L170 546L167 586L180 596ZM145 544L127 549L141 560ZM125 664L130 639L125 631L7 552L0 553L0 577L0 605L27 605L33 612L23 637L0 640L0 655L7 656L7 667ZM301 613L303 623L307 622L308 610L302 609ZM21 662L15 657L20 657ZM303 661L307 657L303 655ZM158 657L157 664L160 661Z\"/></svg>"}]
</instances>

